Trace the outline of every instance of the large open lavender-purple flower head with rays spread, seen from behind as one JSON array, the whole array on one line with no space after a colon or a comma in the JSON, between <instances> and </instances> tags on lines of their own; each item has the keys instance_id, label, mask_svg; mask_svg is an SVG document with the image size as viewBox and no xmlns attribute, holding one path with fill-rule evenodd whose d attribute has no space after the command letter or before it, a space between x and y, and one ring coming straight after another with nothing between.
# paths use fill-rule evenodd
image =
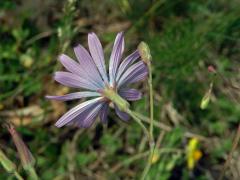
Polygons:
<instances>
[{"instance_id":1,"label":"large open lavender-purple flower head with rays spread, seen from behind","mask_svg":"<svg viewBox=\"0 0 240 180\"><path fill-rule=\"evenodd\" d=\"M147 65L140 58L136 50L124 60L123 32L116 36L109 61L109 70L105 66L102 45L95 33L88 34L89 52L81 45L74 48L78 62L67 55L59 57L60 62L67 72L56 72L54 79L68 87L85 89L85 91L66 94L63 96L46 96L48 99L68 101L74 99L94 97L87 100L65 113L55 124L57 127L75 125L78 127L90 127L97 116L101 122L107 122L107 114L111 98L104 95L106 90L112 90L127 101L136 101L141 98L141 93L131 89L128 85L143 80L147 74ZM117 115L127 121L129 115L121 111L114 104Z\"/></svg>"}]
</instances>

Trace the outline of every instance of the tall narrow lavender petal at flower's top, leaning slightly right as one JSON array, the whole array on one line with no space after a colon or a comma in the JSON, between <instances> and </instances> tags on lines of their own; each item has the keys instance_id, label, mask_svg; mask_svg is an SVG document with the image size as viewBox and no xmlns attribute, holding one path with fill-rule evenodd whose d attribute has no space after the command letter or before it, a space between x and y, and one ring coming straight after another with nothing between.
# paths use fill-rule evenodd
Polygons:
<instances>
[{"instance_id":1,"label":"tall narrow lavender petal at flower's top, leaning slightly right","mask_svg":"<svg viewBox=\"0 0 240 180\"><path fill-rule=\"evenodd\" d=\"M124 51L124 37L123 32L118 33L114 45L112 54L110 56L109 63L109 78L110 78L110 86L115 83L115 76L117 72L117 68L122 58L122 54Z\"/></svg>"}]
</instances>

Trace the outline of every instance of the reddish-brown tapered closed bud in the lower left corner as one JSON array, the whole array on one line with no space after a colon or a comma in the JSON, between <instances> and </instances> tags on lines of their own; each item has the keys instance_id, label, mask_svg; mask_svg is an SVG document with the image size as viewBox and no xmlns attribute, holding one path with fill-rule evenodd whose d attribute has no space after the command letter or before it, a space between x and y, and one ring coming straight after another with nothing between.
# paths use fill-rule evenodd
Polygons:
<instances>
[{"instance_id":1,"label":"reddish-brown tapered closed bud in the lower left corner","mask_svg":"<svg viewBox=\"0 0 240 180\"><path fill-rule=\"evenodd\" d=\"M23 168L28 169L35 164L35 159L32 156L32 153L23 142L21 136L18 134L13 125L8 125L8 131L13 138L13 142L17 148L20 160L22 162Z\"/></svg>"}]
</instances>

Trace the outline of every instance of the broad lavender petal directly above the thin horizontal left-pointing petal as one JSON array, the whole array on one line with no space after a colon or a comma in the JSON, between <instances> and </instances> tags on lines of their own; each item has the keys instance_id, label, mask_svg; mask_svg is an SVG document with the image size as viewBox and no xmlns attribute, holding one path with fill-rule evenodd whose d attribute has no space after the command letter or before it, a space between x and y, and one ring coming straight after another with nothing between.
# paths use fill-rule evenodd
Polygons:
<instances>
[{"instance_id":1,"label":"broad lavender petal directly above the thin horizontal left-pointing petal","mask_svg":"<svg viewBox=\"0 0 240 180\"><path fill-rule=\"evenodd\" d=\"M99 88L88 80L79 77L73 73L69 72L56 72L54 75L55 81L73 88L84 88L97 91Z\"/></svg>"}]
</instances>

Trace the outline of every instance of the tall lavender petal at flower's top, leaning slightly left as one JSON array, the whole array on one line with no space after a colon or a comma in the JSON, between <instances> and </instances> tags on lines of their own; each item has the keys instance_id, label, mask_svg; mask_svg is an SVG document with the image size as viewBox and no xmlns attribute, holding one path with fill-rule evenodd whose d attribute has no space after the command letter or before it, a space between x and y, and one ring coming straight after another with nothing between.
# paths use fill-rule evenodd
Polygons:
<instances>
[{"instance_id":1,"label":"tall lavender petal at flower's top, leaning slightly left","mask_svg":"<svg viewBox=\"0 0 240 180\"><path fill-rule=\"evenodd\" d=\"M88 47L104 82L108 84L102 45L95 33L88 34Z\"/></svg>"}]
</instances>

